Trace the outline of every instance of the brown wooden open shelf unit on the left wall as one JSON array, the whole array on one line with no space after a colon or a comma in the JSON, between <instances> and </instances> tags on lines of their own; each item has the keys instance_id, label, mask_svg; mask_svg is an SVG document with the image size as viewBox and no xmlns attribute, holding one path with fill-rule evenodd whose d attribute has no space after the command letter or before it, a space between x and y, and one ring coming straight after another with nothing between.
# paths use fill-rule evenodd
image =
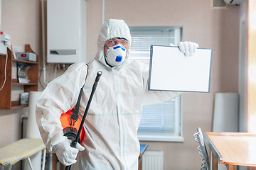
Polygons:
<instances>
[{"instance_id":1,"label":"brown wooden open shelf unit on the left wall","mask_svg":"<svg viewBox=\"0 0 256 170\"><path fill-rule=\"evenodd\" d=\"M30 45L25 45L25 52L33 52ZM33 52L36 53L36 52ZM38 91L38 69L39 69L39 59L36 55L36 62L26 61L26 60L16 60L11 55L11 50L7 50L8 59L6 63L6 55L0 56L0 88L4 84L5 79L5 67L6 67L6 82L3 89L0 91L0 109L14 109L23 108L28 105L21 105L20 101L11 101L11 89L14 86L22 86L24 92ZM12 64L14 62L23 62L28 64L29 68L27 71L29 83L21 84L18 83L18 79L12 79Z\"/></svg>"}]
</instances>

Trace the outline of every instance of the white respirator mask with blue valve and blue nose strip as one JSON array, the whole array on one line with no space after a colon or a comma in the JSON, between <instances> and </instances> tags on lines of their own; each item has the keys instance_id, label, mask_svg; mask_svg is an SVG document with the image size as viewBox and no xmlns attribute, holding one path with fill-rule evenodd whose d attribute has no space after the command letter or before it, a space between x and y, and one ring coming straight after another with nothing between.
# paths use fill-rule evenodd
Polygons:
<instances>
[{"instance_id":1,"label":"white respirator mask with blue valve and blue nose strip","mask_svg":"<svg viewBox=\"0 0 256 170\"><path fill-rule=\"evenodd\" d=\"M117 44L113 47L107 47L107 55L105 55L105 59L107 60L108 64L115 67L122 64L126 56L127 49L123 45Z\"/></svg>"}]
</instances>

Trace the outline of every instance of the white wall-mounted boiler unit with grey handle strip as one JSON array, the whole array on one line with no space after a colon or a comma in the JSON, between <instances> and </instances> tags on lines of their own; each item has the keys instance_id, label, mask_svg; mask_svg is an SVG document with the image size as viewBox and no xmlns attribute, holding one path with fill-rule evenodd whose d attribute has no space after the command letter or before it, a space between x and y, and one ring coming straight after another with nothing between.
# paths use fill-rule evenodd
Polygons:
<instances>
[{"instance_id":1,"label":"white wall-mounted boiler unit with grey handle strip","mask_svg":"<svg viewBox=\"0 0 256 170\"><path fill-rule=\"evenodd\" d=\"M86 62L86 1L47 1L47 62Z\"/></svg>"}]
</instances>

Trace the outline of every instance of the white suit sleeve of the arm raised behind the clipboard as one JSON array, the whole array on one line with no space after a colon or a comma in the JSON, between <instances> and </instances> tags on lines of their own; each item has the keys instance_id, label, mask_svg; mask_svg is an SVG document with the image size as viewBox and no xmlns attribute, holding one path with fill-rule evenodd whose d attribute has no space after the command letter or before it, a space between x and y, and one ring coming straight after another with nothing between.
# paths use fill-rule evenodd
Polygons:
<instances>
[{"instance_id":1,"label":"white suit sleeve of the arm raised behind the clipboard","mask_svg":"<svg viewBox=\"0 0 256 170\"><path fill-rule=\"evenodd\" d=\"M144 84L144 98L143 106L149 106L151 104L162 103L169 101L176 96L180 96L181 92L178 91L149 91L149 67L143 64L142 75Z\"/></svg>"}]
</instances>

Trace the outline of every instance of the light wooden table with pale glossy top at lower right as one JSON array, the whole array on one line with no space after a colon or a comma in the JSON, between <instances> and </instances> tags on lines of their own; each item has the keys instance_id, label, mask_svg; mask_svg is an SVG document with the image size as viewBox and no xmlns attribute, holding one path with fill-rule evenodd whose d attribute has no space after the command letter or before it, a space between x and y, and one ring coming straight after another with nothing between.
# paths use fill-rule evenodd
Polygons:
<instances>
[{"instance_id":1,"label":"light wooden table with pale glossy top at lower right","mask_svg":"<svg viewBox=\"0 0 256 170\"><path fill-rule=\"evenodd\" d=\"M217 160L213 160L213 170L218 169L218 163L225 164L228 170L237 165L256 166L255 133L205 132L203 136Z\"/></svg>"}]
</instances>

